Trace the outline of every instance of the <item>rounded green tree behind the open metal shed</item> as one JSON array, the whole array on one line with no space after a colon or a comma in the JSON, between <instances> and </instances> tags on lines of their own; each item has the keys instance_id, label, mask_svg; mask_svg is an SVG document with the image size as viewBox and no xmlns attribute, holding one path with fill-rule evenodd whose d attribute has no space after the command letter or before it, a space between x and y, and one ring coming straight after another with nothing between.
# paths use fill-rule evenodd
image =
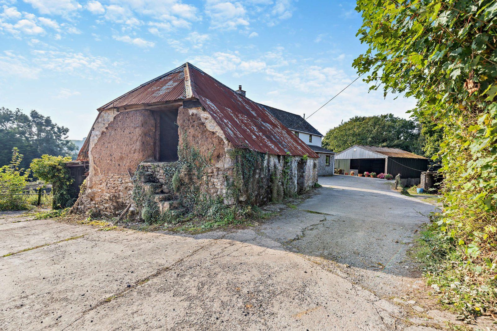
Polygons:
<instances>
[{"instance_id":1,"label":"rounded green tree behind the open metal shed","mask_svg":"<svg viewBox=\"0 0 497 331\"><path fill-rule=\"evenodd\" d=\"M323 146L334 152L353 145L394 147L415 154L422 153L419 125L393 114L352 117L330 129L323 138Z\"/></svg>"}]
</instances>

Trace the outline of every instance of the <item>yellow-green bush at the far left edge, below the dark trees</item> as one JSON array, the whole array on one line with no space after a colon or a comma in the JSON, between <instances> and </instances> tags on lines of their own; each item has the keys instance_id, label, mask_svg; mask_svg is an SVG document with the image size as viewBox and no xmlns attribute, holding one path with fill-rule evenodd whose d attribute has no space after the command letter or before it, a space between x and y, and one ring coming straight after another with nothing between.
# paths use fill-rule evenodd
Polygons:
<instances>
[{"instance_id":1,"label":"yellow-green bush at the far left edge, below the dark trees","mask_svg":"<svg viewBox=\"0 0 497 331\"><path fill-rule=\"evenodd\" d=\"M28 209L29 204L21 194L28 183L29 169L20 167L22 158L14 147L10 164L0 167L0 210Z\"/></svg>"}]
</instances>

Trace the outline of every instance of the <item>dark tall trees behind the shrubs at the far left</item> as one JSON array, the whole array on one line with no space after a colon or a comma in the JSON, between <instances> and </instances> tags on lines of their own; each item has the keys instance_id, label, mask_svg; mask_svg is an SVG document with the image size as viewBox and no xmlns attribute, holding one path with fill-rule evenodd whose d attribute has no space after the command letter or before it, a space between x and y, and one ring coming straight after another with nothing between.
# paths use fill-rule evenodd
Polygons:
<instances>
[{"instance_id":1,"label":"dark tall trees behind the shrubs at the far left","mask_svg":"<svg viewBox=\"0 0 497 331\"><path fill-rule=\"evenodd\" d=\"M0 108L0 165L7 165L10 150L16 147L24 155L21 167L27 168L31 160L43 154L70 156L77 150L68 140L69 129L52 122L31 110L29 115L16 109Z\"/></svg>"}]
</instances>

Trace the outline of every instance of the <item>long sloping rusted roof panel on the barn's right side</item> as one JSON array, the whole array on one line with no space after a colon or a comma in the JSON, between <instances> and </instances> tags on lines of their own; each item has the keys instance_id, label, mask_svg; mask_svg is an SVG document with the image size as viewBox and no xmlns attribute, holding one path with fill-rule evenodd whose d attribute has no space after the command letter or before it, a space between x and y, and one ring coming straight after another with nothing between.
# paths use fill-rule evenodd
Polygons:
<instances>
[{"instance_id":1,"label":"long sloping rusted roof panel on the barn's right side","mask_svg":"<svg viewBox=\"0 0 497 331\"><path fill-rule=\"evenodd\" d=\"M236 147L319 158L266 109L188 64L193 95Z\"/></svg>"}]
</instances>

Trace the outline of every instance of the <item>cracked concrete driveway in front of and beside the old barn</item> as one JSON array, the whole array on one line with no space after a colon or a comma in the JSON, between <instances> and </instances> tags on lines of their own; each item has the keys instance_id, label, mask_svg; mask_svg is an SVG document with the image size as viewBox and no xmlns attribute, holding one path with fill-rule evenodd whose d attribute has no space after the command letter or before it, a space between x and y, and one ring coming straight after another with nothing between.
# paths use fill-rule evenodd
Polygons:
<instances>
[{"instance_id":1,"label":"cracked concrete driveway in front of and beside the old barn","mask_svg":"<svg viewBox=\"0 0 497 331\"><path fill-rule=\"evenodd\" d=\"M272 206L279 217L195 236L3 215L0 256L14 254L0 258L0 329L430 330L443 321L407 302L424 295L406 251L433 206L385 180L320 182L298 209Z\"/></svg>"}]
</instances>

